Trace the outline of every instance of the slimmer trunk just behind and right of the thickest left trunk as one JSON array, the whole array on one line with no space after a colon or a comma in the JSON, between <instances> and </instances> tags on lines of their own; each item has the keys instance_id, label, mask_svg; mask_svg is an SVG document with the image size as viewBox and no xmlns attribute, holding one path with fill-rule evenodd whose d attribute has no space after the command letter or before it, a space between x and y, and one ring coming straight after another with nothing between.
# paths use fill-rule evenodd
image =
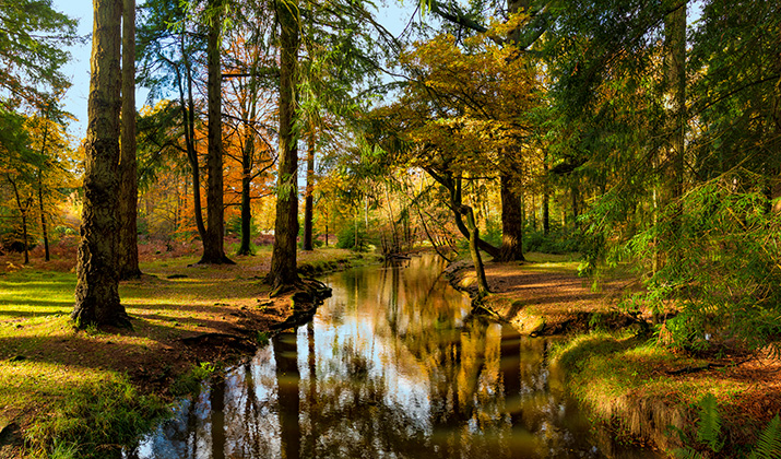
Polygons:
<instances>
[{"instance_id":1,"label":"slimmer trunk just behind and right of the thickest left trunk","mask_svg":"<svg viewBox=\"0 0 781 459\"><path fill-rule=\"evenodd\" d=\"M123 0L122 12L122 128L119 156L119 279L141 275L139 269L135 161L135 0Z\"/></svg>"}]
</instances>

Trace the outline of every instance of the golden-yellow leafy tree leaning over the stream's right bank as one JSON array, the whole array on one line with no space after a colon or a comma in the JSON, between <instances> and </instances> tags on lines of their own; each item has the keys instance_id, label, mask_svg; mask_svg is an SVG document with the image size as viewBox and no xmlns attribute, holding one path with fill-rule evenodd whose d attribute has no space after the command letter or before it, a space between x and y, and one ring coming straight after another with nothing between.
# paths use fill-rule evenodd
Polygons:
<instances>
[{"instance_id":1,"label":"golden-yellow leafy tree leaning over the stream's right bank","mask_svg":"<svg viewBox=\"0 0 781 459\"><path fill-rule=\"evenodd\" d=\"M522 172L530 158L522 154L521 145L530 132L525 113L534 104L534 79L523 59L516 56L517 48L493 39L513 24L518 22L497 24L490 35L464 40L463 50L450 35L418 44L402 57L416 81L405 87L399 103L375 113L380 121L376 129L386 137L378 138L380 144L391 151L398 150L390 145L394 142L407 145L402 146L406 153L398 161L422 167L448 191L447 205L466 238L471 231L465 214L459 211L464 205L461 180L498 178L504 184L504 208L517 211L502 212L506 234L516 234L514 226L522 225L520 205L509 199L518 199L519 188L528 181ZM494 258L502 258L500 248L483 239L476 244ZM506 247L522 248L520 240ZM509 251L507 258L518 256Z\"/></svg>"}]
</instances>

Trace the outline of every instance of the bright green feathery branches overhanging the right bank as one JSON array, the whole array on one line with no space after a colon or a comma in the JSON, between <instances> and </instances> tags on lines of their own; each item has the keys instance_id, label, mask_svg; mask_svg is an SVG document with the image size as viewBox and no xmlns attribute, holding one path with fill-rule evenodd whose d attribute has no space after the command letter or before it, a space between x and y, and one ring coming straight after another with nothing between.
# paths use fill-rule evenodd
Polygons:
<instances>
[{"instance_id":1,"label":"bright green feathery branches overhanging the right bank","mask_svg":"<svg viewBox=\"0 0 781 459\"><path fill-rule=\"evenodd\" d=\"M781 291L772 287L781 283L781 217L768 211L761 183L745 170L703 183L684 196L685 213L667 209L627 245L642 259L664 257L648 299L682 305L667 323L674 345L706 348L710 333L756 349L781 333Z\"/></svg>"}]
</instances>

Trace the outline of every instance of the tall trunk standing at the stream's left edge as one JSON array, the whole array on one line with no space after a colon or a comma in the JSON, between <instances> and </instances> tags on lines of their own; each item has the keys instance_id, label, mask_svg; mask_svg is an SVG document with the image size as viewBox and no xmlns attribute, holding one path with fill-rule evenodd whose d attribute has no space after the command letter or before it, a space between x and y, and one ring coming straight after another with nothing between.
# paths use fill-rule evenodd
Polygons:
<instances>
[{"instance_id":1,"label":"tall trunk standing at the stream's left edge","mask_svg":"<svg viewBox=\"0 0 781 459\"><path fill-rule=\"evenodd\" d=\"M298 67L298 5L276 1L280 21L280 163L276 185L274 248L268 282L275 289L298 282L296 237L298 235L298 154L294 125L297 118L295 89Z\"/></svg>"}]
</instances>

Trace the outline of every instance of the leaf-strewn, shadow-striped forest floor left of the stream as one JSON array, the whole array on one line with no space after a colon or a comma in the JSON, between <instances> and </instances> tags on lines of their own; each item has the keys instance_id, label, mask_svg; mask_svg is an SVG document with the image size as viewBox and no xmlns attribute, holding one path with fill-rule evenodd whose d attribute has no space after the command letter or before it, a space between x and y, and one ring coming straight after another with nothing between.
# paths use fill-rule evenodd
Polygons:
<instances>
[{"instance_id":1,"label":"leaf-strewn, shadow-striped forest floor left of the stream","mask_svg":"<svg viewBox=\"0 0 781 459\"><path fill-rule=\"evenodd\" d=\"M263 283L269 249L234 257L235 266L194 264L196 250L142 244L143 275L120 284L132 329L84 331L69 319L74 244L52 248L48 263L37 251L28 264L19 254L0 257L0 458L35 452L47 443L51 447L50 439L39 437L60 427L36 424L60 415L75 392L116 382L138 390L138 399L171 400L181 395L177 387L188 375L211 368L205 362L251 356L267 332L292 316L289 295L269 298ZM298 258L304 274L372 261L374 256L335 248L299 252Z\"/></svg>"}]
</instances>

